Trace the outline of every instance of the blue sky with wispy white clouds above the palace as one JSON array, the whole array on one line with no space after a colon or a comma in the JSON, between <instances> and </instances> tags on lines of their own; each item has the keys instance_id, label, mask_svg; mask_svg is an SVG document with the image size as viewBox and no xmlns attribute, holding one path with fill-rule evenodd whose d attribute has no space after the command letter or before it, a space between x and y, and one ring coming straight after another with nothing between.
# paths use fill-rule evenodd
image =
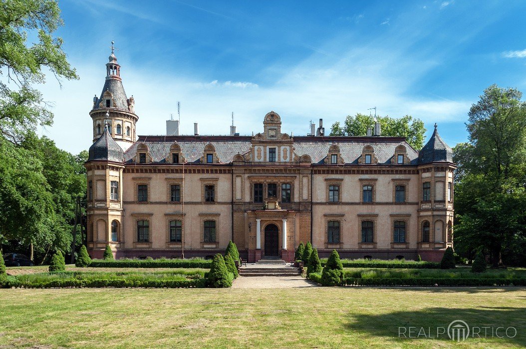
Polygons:
<instances>
[{"instance_id":1,"label":"blue sky with wispy white clouds above the palace","mask_svg":"<svg viewBox=\"0 0 526 349\"><path fill-rule=\"evenodd\" d=\"M323 118L328 131L349 114L434 122L450 146L466 141L472 103L491 84L526 90L526 2L520 1L119 1L63 0L69 61L78 81L42 87L55 125L42 130L60 148L87 149L89 110L100 95L109 45L137 134L181 129L228 134L262 130L275 110L282 131L305 135ZM72 127L73 124L73 127Z\"/></svg>"}]
</instances>

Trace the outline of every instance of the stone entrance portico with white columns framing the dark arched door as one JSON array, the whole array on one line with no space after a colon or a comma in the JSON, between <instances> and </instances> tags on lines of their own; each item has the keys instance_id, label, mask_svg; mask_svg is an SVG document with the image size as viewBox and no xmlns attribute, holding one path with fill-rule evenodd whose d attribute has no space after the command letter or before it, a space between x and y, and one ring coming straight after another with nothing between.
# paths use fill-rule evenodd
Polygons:
<instances>
[{"instance_id":1,"label":"stone entrance portico with white columns framing the dark arched door","mask_svg":"<svg viewBox=\"0 0 526 349\"><path fill-rule=\"evenodd\" d=\"M270 203L269 207L272 207ZM279 256L286 262L293 262L296 227L298 226L296 211L281 210L277 206L274 209L246 211L246 213L249 227L251 227L248 231L248 262L259 261L266 255L265 229L271 224L278 228Z\"/></svg>"}]
</instances>

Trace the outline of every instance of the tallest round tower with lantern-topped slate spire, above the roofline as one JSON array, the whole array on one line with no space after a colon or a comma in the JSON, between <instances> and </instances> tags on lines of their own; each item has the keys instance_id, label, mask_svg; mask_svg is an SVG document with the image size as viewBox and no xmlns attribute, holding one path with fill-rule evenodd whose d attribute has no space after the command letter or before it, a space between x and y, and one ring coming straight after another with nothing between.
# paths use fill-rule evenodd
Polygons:
<instances>
[{"instance_id":1,"label":"tallest round tower with lantern-topped slate spire, above the roofline","mask_svg":"<svg viewBox=\"0 0 526 349\"><path fill-rule=\"evenodd\" d=\"M89 116L93 119L94 142L104 134L105 124L109 124L109 134L126 151L135 142L135 124L139 117L135 115L133 96L126 97L113 44L112 41L112 54L106 63L106 81L100 97L93 97Z\"/></svg>"}]
</instances>

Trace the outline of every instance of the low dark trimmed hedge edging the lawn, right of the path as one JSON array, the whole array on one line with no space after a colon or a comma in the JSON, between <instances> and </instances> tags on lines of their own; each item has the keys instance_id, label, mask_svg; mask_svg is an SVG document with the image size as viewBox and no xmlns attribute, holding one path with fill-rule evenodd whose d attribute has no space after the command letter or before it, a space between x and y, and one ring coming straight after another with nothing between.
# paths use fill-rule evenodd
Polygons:
<instances>
[{"instance_id":1,"label":"low dark trimmed hedge edging the lawn, right of the path","mask_svg":"<svg viewBox=\"0 0 526 349\"><path fill-rule=\"evenodd\" d=\"M526 279L483 278L346 278L348 286L526 286Z\"/></svg>"}]
</instances>

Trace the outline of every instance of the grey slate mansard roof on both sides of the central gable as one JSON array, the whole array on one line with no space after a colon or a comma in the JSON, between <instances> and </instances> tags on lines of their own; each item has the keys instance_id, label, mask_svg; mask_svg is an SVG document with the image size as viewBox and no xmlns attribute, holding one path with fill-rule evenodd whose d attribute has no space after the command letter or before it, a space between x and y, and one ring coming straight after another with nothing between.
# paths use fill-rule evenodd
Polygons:
<instances>
[{"instance_id":1,"label":"grey slate mansard roof on both sides of the central gable","mask_svg":"<svg viewBox=\"0 0 526 349\"><path fill-rule=\"evenodd\" d=\"M216 148L216 153L222 163L229 163L238 153L244 154L250 150L250 136L139 136L124 153L124 161L131 162L139 144L148 146L154 162L166 162L170 146L177 141L183 151L183 156L189 163L198 163L203 156L205 146L210 143ZM309 155L312 163L322 164L327 157L329 147L338 145L340 153L347 164L357 164L362 155L363 147L370 145L375 149L379 165L389 165L399 145L406 147L411 165L418 164L418 151L414 150L401 137L294 137L294 153L298 157Z\"/></svg>"}]
</instances>

